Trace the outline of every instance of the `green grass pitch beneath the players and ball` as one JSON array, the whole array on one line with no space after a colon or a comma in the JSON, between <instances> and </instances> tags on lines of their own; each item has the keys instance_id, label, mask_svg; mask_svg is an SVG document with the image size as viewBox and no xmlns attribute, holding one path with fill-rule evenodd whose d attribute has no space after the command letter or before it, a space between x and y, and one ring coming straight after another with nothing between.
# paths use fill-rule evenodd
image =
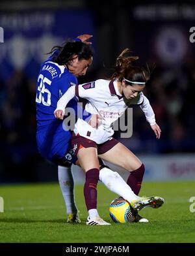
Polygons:
<instances>
[{"instance_id":1,"label":"green grass pitch beneath the players and ball","mask_svg":"<svg viewBox=\"0 0 195 256\"><path fill-rule=\"evenodd\" d=\"M0 213L0 242L51 243L135 243L195 242L195 212L190 197L194 181L144 182L140 195L164 197L159 209L146 208L140 215L149 223L116 224L109 217L109 204L116 197L98 185L98 211L110 226L85 225L87 211L83 185L75 187L81 224L66 223L66 210L59 185L1 185L4 212Z\"/></svg>"}]
</instances>

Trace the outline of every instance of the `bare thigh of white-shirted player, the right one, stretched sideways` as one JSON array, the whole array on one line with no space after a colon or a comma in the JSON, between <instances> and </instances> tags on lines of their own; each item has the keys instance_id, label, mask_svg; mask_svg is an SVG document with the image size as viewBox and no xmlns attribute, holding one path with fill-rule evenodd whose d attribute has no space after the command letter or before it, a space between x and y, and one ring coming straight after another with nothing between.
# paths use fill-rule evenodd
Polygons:
<instances>
[{"instance_id":1,"label":"bare thigh of white-shirted player, the right one, stretched sideways","mask_svg":"<svg viewBox=\"0 0 195 256\"><path fill-rule=\"evenodd\" d=\"M122 143L116 144L113 148L111 148L106 153L98 155L100 159L105 161L109 161L114 165L118 165L120 167L129 170L136 170L142 165L142 162L134 155L131 150L126 148Z\"/></svg>"}]
</instances>

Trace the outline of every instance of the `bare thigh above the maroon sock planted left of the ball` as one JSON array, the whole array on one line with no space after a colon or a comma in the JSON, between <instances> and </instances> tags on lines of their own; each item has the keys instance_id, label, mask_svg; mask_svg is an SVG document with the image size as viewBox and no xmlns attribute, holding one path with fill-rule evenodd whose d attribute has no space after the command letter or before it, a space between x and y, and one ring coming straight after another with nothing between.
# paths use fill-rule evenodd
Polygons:
<instances>
[{"instance_id":1,"label":"bare thigh above the maroon sock planted left of the ball","mask_svg":"<svg viewBox=\"0 0 195 256\"><path fill-rule=\"evenodd\" d=\"M85 172L92 168L99 169L98 151L96 148L81 148L77 153L79 165Z\"/></svg>"}]
</instances>

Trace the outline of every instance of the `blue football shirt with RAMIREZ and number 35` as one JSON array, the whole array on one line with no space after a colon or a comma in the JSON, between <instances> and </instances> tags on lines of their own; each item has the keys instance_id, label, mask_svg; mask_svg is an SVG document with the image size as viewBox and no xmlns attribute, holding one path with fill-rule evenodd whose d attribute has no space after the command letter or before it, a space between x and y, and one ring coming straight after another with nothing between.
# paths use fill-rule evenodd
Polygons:
<instances>
[{"instance_id":1,"label":"blue football shirt with RAMIREZ and number 35","mask_svg":"<svg viewBox=\"0 0 195 256\"><path fill-rule=\"evenodd\" d=\"M47 59L40 70L36 86L36 121L37 127L49 125L55 120L53 114L60 97L70 86L77 84L77 78L63 65ZM73 99L72 103L75 106ZM69 105L72 105L69 103Z\"/></svg>"}]
</instances>

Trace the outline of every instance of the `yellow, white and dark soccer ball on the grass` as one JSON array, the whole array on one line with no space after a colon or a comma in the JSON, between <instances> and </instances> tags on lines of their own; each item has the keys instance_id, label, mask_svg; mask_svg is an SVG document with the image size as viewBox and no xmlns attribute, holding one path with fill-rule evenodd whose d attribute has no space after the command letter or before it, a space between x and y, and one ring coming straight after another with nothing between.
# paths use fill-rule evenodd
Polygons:
<instances>
[{"instance_id":1,"label":"yellow, white and dark soccer ball on the grass","mask_svg":"<svg viewBox=\"0 0 195 256\"><path fill-rule=\"evenodd\" d=\"M110 203L109 214L115 223L127 223L135 221L137 212L127 200L118 197Z\"/></svg>"}]
</instances>

